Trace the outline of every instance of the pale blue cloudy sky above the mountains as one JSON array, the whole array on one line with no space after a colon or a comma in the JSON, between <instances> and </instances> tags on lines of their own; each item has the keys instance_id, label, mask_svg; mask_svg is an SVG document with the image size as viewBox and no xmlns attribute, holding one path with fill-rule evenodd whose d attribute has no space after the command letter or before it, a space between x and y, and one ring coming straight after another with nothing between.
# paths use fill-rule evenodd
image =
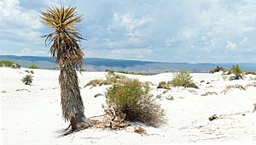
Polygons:
<instances>
[{"instance_id":1,"label":"pale blue cloudy sky above the mountains","mask_svg":"<svg viewBox=\"0 0 256 145\"><path fill-rule=\"evenodd\" d=\"M49 56L47 6L83 15L85 57L256 63L256 1L0 0L0 54Z\"/></svg>"}]
</instances>

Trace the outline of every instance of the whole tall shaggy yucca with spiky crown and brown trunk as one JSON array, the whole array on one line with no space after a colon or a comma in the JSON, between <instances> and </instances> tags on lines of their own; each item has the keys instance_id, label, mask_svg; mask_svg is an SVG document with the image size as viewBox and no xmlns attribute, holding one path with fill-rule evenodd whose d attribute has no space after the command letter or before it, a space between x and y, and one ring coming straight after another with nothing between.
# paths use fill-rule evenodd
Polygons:
<instances>
[{"instance_id":1,"label":"whole tall shaggy yucca with spiky crown and brown trunk","mask_svg":"<svg viewBox=\"0 0 256 145\"><path fill-rule=\"evenodd\" d=\"M59 83L61 86L62 116L70 121L72 130L87 128L84 105L80 95L79 81L76 70L81 70L84 53L79 42L83 39L79 34L81 15L76 8L64 7L47 8L41 12L41 21L51 28L51 33L45 35L45 44L51 44L49 52L59 64L61 73Z\"/></svg>"}]
</instances>

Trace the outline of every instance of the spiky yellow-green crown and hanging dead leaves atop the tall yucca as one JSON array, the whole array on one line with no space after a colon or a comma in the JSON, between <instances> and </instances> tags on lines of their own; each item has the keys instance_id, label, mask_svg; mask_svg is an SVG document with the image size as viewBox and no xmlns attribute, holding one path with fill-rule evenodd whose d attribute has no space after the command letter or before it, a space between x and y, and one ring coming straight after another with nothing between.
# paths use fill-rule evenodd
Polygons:
<instances>
[{"instance_id":1,"label":"spiky yellow-green crown and hanging dead leaves atop the tall yucca","mask_svg":"<svg viewBox=\"0 0 256 145\"><path fill-rule=\"evenodd\" d=\"M79 31L79 22L82 16L76 12L75 7L65 8L46 8L41 12L41 22L49 26L52 32L45 35L45 43L50 44L49 51L52 57L55 57L60 66L63 64L82 66L84 53L82 52L79 41L82 38Z\"/></svg>"}]
</instances>

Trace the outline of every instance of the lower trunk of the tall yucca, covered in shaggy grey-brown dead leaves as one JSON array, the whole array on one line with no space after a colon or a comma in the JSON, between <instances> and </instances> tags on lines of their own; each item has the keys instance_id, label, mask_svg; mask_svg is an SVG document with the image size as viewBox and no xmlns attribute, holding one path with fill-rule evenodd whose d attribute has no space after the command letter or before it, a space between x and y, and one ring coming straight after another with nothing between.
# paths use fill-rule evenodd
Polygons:
<instances>
[{"instance_id":1,"label":"lower trunk of the tall yucca, covered in shaggy grey-brown dead leaves","mask_svg":"<svg viewBox=\"0 0 256 145\"><path fill-rule=\"evenodd\" d=\"M64 63L68 64L68 62ZM78 130L85 123L84 105L80 95L78 75L72 65L60 66L62 116L70 121L73 130Z\"/></svg>"}]
</instances>

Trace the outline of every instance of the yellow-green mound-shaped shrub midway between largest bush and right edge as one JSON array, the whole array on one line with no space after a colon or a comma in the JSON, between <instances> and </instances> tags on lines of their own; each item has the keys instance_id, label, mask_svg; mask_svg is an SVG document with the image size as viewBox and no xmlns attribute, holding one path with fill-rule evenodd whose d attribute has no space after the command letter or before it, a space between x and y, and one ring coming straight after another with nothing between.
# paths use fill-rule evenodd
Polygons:
<instances>
[{"instance_id":1,"label":"yellow-green mound-shaped shrub midway between largest bush and right edge","mask_svg":"<svg viewBox=\"0 0 256 145\"><path fill-rule=\"evenodd\" d=\"M190 75L189 71L186 71L186 70L177 72L177 74L174 75L174 78L172 79L172 81L168 81L168 84L172 86L198 88L198 86L196 86L195 83L192 81L192 76Z\"/></svg>"}]
</instances>

